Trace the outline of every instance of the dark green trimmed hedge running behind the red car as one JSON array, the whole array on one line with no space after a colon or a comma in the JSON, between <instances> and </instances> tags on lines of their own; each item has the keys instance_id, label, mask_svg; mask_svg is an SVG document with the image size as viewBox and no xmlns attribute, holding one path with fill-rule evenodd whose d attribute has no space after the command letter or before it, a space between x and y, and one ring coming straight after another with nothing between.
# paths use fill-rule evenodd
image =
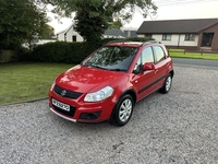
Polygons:
<instances>
[{"instance_id":1,"label":"dark green trimmed hedge running behind the red car","mask_svg":"<svg viewBox=\"0 0 218 164\"><path fill-rule=\"evenodd\" d=\"M95 44L66 42L48 43L39 45L35 47L32 52L23 55L22 60L25 58L26 61L80 63L95 49L111 40L114 40L114 38L106 38ZM146 42L148 38L128 38L116 40Z\"/></svg>"}]
</instances>

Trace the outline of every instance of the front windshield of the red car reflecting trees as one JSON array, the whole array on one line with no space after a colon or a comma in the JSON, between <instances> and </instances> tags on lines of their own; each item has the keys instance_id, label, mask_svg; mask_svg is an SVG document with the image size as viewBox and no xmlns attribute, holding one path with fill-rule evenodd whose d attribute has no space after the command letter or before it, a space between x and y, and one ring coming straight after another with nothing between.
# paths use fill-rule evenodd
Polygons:
<instances>
[{"instance_id":1,"label":"front windshield of the red car reflecting trees","mask_svg":"<svg viewBox=\"0 0 218 164\"><path fill-rule=\"evenodd\" d=\"M137 48L105 46L85 59L82 65L112 71L128 71Z\"/></svg>"}]
</instances>

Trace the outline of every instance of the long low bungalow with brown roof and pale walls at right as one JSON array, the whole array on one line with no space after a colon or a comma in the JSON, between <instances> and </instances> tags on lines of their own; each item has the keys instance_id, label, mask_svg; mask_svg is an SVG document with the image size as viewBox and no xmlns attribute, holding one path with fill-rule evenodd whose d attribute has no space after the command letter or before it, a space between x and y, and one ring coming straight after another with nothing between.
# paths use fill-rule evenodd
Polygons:
<instances>
[{"instance_id":1,"label":"long low bungalow with brown roof and pale walls at right","mask_svg":"<svg viewBox=\"0 0 218 164\"><path fill-rule=\"evenodd\" d=\"M167 47L218 50L218 19L145 21L136 34Z\"/></svg>"}]
</instances>

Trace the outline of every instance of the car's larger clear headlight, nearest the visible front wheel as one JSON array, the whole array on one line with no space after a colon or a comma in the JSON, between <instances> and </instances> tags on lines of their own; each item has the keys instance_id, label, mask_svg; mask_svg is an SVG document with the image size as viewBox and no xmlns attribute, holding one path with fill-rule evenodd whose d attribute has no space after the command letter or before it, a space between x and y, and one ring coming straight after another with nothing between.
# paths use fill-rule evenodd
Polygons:
<instances>
[{"instance_id":1,"label":"car's larger clear headlight, nearest the visible front wheel","mask_svg":"<svg viewBox=\"0 0 218 164\"><path fill-rule=\"evenodd\" d=\"M106 86L97 92L94 93L88 93L85 98L84 102L99 102L99 101L104 101L107 97L111 96L113 93L113 89L111 86Z\"/></svg>"}]
</instances>

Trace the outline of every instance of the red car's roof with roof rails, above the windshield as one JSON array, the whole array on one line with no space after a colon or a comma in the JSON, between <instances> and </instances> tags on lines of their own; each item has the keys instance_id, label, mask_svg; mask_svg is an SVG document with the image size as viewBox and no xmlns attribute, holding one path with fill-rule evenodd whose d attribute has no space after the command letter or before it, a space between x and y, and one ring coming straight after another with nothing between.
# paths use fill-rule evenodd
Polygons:
<instances>
[{"instance_id":1,"label":"red car's roof with roof rails, above the windshield","mask_svg":"<svg viewBox=\"0 0 218 164\"><path fill-rule=\"evenodd\" d=\"M130 42L130 40L114 40L107 43L106 46L122 46L122 47L141 47L144 45L154 45L154 44L160 44L160 42L157 40L148 40L148 42Z\"/></svg>"}]
</instances>

